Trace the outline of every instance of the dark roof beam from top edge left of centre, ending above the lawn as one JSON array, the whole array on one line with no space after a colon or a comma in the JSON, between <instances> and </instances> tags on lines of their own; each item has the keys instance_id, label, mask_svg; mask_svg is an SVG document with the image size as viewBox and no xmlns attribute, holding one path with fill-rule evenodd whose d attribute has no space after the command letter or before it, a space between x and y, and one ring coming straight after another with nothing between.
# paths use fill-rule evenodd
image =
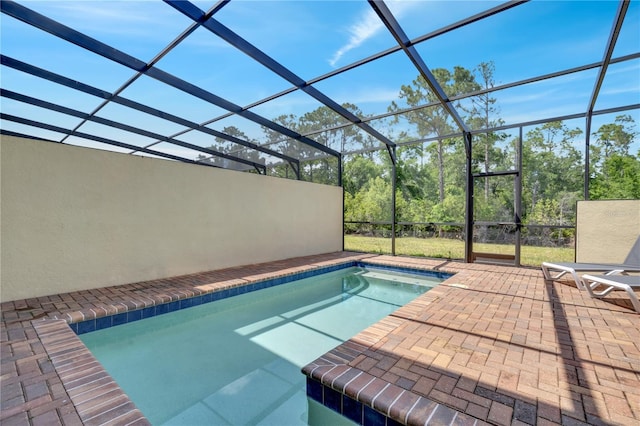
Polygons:
<instances>
[{"instance_id":1,"label":"dark roof beam from top edge left of centre, ending above the lawn","mask_svg":"<svg viewBox=\"0 0 640 426\"><path fill-rule=\"evenodd\" d=\"M165 3L169 4L179 12L183 13L190 19L194 21L200 21L203 18L204 12L200 10L197 6L193 5L188 1L175 1L175 0L164 0ZM327 106L329 109L333 110L337 114L341 115L352 124L360 127L362 130L383 142L387 146L395 146L395 143L392 142L389 138L369 126L367 123L363 122L360 117L353 114L351 111L329 98L318 89L313 86L310 86L307 82L305 82L301 77L296 75L293 71L289 70L275 59L271 58L269 55L258 49L256 46L249 43L247 40L242 38L240 35L234 33L230 28L224 26L219 21L214 18L208 19L206 22L202 24L203 27L211 31L213 34L217 35L227 43L234 46L236 49L240 50L244 54L248 55L253 60L259 62L260 64L267 67L269 70L276 73L278 76L284 78L289 83L293 84L298 89L302 90L309 96L316 99L318 102Z\"/></svg>"}]
</instances>

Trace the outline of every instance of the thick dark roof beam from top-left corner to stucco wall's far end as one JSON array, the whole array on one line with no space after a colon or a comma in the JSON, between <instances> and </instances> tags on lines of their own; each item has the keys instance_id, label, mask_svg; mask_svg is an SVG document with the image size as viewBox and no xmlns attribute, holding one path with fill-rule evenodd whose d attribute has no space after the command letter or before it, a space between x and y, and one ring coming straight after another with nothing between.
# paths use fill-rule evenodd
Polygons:
<instances>
[{"instance_id":1,"label":"thick dark roof beam from top-left corner to stucco wall's far end","mask_svg":"<svg viewBox=\"0 0 640 426\"><path fill-rule=\"evenodd\" d=\"M91 38L83 33L80 33L72 28L69 28L53 19L47 18L31 9L28 9L18 3L11 0L4 0L0 2L0 7L3 13L12 16L26 24L29 24L35 28L39 28L45 32L48 32L56 37L73 43L83 49L96 53L111 61L124 65L127 68L131 68L134 71L141 72L151 78L154 78L164 84L172 86L178 90L195 96L203 101L209 102L227 111L233 112L247 120L253 121L261 126L274 130L278 133L282 133L292 139L298 140L304 144L311 146L312 148L324 151L327 154L331 154L335 157L339 156L339 153L327 146L324 146L308 137L288 129L280 124L277 124L271 120L268 120L254 112L246 111L242 107L223 99L211 92L208 92L194 84L191 84L185 80L182 80L172 74L160 70L155 66L148 66L145 62L134 58L114 47L104 44L94 38Z\"/></svg>"}]
</instances>

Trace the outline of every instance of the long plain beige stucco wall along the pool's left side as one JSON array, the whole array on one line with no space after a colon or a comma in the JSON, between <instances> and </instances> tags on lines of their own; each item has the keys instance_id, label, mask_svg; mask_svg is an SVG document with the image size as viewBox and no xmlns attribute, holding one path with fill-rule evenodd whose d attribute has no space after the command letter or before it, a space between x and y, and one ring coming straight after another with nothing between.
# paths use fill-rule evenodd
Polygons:
<instances>
[{"instance_id":1,"label":"long plain beige stucco wall along the pool's left side","mask_svg":"<svg viewBox=\"0 0 640 426\"><path fill-rule=\"evenodd\" d=\"M342 249L342 188L2 136L2 301Z\"/></svg>"}]
</instances>

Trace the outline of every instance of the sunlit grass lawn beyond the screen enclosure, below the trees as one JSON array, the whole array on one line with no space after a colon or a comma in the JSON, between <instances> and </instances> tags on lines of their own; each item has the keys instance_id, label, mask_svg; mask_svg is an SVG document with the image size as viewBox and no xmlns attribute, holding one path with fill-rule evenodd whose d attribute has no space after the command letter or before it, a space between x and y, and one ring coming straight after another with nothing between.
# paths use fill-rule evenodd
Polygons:
<instances>
[{"instance_id":1,"label":"sunlit grass lawn beyond the screen enclosure, below the trees","mask_svg":"<svg viewBox=\"0 0 640 426\"><path fill-rule=\"evenodd\" d=\"M344 249L366 253L390 254L391 238L345 235ZM503 244L474 244L474 251L514 254L513 246ZM462 259L464 257L464 242L445 238L396 238L396 254ZM520 263L527 266L540 266L545 261L572 262L573 259L574 250L572 248L523 246L520 252Z\"/></svg>"}]
</instances>

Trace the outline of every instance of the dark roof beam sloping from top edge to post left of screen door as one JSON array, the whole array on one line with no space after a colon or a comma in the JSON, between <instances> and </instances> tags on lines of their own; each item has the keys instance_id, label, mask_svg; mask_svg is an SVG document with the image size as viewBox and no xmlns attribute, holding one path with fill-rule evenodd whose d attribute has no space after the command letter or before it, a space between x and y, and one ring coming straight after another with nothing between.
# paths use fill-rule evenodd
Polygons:
<instances>
[{"instance_id":1,"label":"dark roof beam sloping from top edge to post left of screen door","mask_svg":"<svg viewBox=\"0 0 640 426\"><path fill-rule=\"evenodd\" d=\"M456 111L455 107L453 106L453 103L451 102L445 91L442 89L442 86L440 86L440 83L438 83L435 76L431 73L431 70L429 70L427 64L425 64L418 51L411 44L409 37L407 37L406 33L396 20L395 16L393 16L387 5L382 0L369 0L369 4L376 12L376 14L380 17L391 35L393 35L393 38L396 39L411 62L413 62L415 67L418 69L422 78L425 79L425 81L429 85L429 88L433 91L435 96L440 101L440 105L445 109L445 111L447 111L451 118L453 118L453 121L455 121L455 123L463 133L469 133L469 127L462 120L462 118L458 114L458 111ZM467 152L470 151L468 150Z\"/></svg>"}]
</instances>

